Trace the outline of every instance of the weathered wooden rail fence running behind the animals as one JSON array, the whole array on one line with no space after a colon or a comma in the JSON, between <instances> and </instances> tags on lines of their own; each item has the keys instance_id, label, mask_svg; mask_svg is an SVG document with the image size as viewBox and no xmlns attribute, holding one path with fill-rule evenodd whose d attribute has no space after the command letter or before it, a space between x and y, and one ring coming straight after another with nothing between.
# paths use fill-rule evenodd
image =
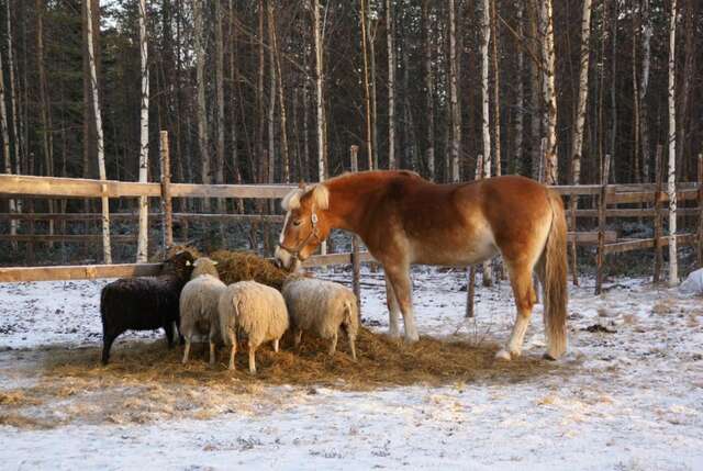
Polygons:
<instances>
[{"instance_id":1,"label":"weathered wooden rail fence running behind the animals","mask_svg":"<svg viewBox=\"0 0 703 471\"><path fill-rule=\"evenodd\" d=\"M161 153L161 166L168 168L168 153ZM353 164L355 152L353 149ZM606 162L609 159L606 159ZM607 164L606 164L607 167ZM604 175L609 175L607 168ZM662 203L668 201L668 195L662 189L661 179L661 150L657 152L657 179L655 183L639 184L609 184L606 179L602 184L580 184L580 186L554 186L570 202L574 199L579 205L567 204L567 217L570 223L569 245L571 251L571 266L576 277L576 246L585 245L596 247L596 292L601 291L605 258L607 255L622 254L629 250L654 248L656 253L654 278L659 280L661 272L662 247L669 244L671 236L663 235L661 218L668 214L662 208ZM695 217L696 231L691 233L677 234L677 242L680 245L694 245L698 249L699 263L703 254L703 157L699 156L699 181L678 183L677 198L684 204L678 209L679 217ZM160 183L137 183L126 181L101 181L72 178L55 177L31 177L15 175L0 175L0 195L5 198L138 198L142 195L157 198L161 201L161 212L152 213L152 220L161 221L164 227L164 242L166 246L172 244L172 221L228 221L228 222L266 222L280 223L282 216L269 214L191 214L172 213L172 198L216 198L216 199L280 199L286 195L294 186L290 184L190 184L171 183L169 175L161 176ZM590 200L590 201L583 201ZM695 205L685 206L690 202ZM585 208L584 208L585 205ZM618 208L627 205L628 208ZM0 221L91 221L100 220L101 214L48 214L48 213L23 213L23 214L0 214ZM136 213L116 213L111 218L136 220ZM593 231L577 232L578 220L595 220ZM613 218L652 218L654 236L649 238L623 238L617 233L607 229L607 221ZM34 243L54 242L86 242L100 239L100 235L63 235L63 234L2 234L0 240ZM112 236L116 242L135 242L135 236ZM358 242L355 239L353 246L355 250L350 254L333 254L311 257L306 266L353 263L370 261L372 258L367 253L358 250ZM0 282L12 281L40 281L40 280L69 280L90 278L112 278L145 276L156 272L158 265L154 263L123 263L123 265L91 265L70 267L31 267L31 268L0 268ZM358 268L355 269L355 285L358 285Z\"/></svg>"}]
</instances>

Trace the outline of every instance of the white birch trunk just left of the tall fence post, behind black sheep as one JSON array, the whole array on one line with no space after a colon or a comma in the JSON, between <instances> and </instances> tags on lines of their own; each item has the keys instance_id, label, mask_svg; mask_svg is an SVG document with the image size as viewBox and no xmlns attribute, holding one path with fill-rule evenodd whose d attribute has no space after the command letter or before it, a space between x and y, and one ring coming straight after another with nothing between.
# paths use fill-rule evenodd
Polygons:
<instances>
[{"instance_id":1,"label":"white birch trunk just left of the tall fence post, behind black sheep","mask_svg":"<svg viewBox=\"0 0 703 471\"><path fill-rule=\"evenodd\" d=\"M140 113L140 181L146 183L149 168L149 68L146 40L146 0L140 0L140 64L142 66L142 99ZM148 198L140 197L140 235L136 262L145 263L148 257Z\"/></svg>"}]
</instances>

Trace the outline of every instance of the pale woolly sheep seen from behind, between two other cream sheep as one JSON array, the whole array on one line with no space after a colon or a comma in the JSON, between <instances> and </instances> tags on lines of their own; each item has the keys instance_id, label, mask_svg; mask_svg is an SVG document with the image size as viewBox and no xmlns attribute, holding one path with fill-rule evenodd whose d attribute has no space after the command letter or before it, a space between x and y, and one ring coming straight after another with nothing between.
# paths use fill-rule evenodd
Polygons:
<instances>
[{"instance_id":1,"label":"pale woolly sheep seen from behind, between two other cream sheep","mask_svg":"<svg viewBox=\"0 0 703 471\"><path fill-rule=\"evenodd\" d=\"M249 344L249 373L256 373L255 352L265 341L274 343L278 352L280 338L288 329L288 310L281 293L256 281L230 284L217 306L220 330L226 346L231 346L230 370L234 370L237 351L237 329L246 334Z\"/></svg>"}]
</instances>

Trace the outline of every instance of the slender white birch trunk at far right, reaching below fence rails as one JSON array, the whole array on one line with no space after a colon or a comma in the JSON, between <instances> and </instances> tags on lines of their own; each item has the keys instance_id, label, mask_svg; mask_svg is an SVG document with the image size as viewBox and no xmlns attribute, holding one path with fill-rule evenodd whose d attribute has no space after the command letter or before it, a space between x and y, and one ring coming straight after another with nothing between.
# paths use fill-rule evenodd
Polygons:
<instances>
[{"instance_id":1,"label":"slender white birch trunk at far right, reaching below fence rails","mask_svg":"<svg viewBox=\"0 0 703 471\"><path fill-rule=\"evenodd\" d=\"M676 109L677 0L671 0L669 20L669 285L679 284L677 259L677 109Z\"/></svg>"}]
</instances>

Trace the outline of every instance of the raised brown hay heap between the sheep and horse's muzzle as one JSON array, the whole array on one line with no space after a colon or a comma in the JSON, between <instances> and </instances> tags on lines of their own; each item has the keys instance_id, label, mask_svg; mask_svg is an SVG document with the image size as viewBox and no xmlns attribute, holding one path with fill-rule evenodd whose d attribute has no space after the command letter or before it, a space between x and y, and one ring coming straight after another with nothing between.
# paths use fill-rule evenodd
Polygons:
<instances>
[{"instance_id":1,"label":"raised brown hay heap between the sheep and horse's muzzle","mask_svg":"<svg viewBox=\"0 0 703 471\"><path fill-rule=\"evenodd\" d=\"M252 253L216 250L209 257L217 262L220 279L225 284L254 280L280 290L288 276L271 261Z\"/></svg>"}]
</instances>

